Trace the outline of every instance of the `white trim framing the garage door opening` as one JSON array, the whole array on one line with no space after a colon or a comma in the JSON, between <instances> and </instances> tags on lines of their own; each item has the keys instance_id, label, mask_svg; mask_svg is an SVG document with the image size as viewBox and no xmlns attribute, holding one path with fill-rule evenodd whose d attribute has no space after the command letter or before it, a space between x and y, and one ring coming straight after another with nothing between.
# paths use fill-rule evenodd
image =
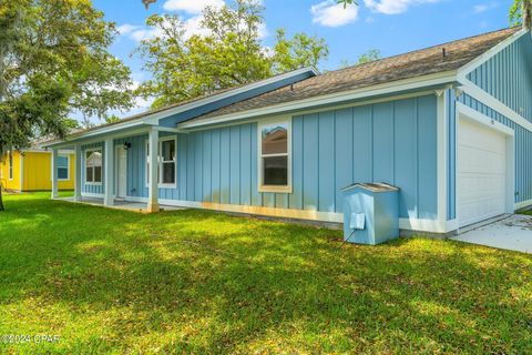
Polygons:
<instances>
[{"instance_id":1,"label":"white trim framing the garage door opening","mask_svg":"<svg viewBox=\"0 0 532 355\"><path fill-rule=\"evenodd\" d=\"M457 102L456 108L456 124L457 124L457 138L456 138L456 152L457 152L457 162L454 170L454 184L456 184L456 220L458 221L457 227L460 232L460 213L458 206L460 205L460 180L458 176L458 166L460 166L460 152L459 152L459 142L460 142L460 120L468 120L481 124L482 126L494 130L499 133L502 133L507 136L507 191L505 191L505 213L513 213L515 211L515 132L509 126L499 123L498 121L482 114L481 112L469 108L468 105Z\"/></svg>"}]
</instances>

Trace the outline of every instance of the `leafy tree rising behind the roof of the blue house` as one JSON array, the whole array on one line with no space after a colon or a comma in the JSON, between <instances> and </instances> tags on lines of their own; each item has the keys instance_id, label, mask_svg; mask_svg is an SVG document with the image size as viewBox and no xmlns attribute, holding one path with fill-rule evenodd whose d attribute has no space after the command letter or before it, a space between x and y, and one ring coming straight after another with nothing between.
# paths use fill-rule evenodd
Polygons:
<instances>
[{"instance_id":1,"label":"leafy tree rising behind the roof of the blue house","mask_svg":"<svg viewBox=\"0 0 532 355\"><path fill-rule=\"evenodd\" d=\"M256 0L207 7L202 33L188 36L177 14L155 14L146 24L161 33L136 50L152 79L139 93L155 98L154 108L242 85L305 65L317 65L328 54L323 39L297 33L288 39L277 30L276 44L262 44L264 8Z\"/></svg>"}]
</instances>

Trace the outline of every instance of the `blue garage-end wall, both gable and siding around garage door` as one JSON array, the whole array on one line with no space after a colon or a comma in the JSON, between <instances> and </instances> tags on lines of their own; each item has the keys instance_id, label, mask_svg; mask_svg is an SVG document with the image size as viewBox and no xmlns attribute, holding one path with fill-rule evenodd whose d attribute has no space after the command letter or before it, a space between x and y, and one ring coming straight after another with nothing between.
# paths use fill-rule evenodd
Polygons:
<instances>
[{"instance_id":1,"label":"blue garage-end wall, both gable and siding around garage door","mask_svg":"<svg viewBox=\"0 0 532 355\"><path fill-rule=\"evenodd\" d=\"M467 75L473 84L532 122L532 38L526 33ZM467 93L448 90L449 113L448 220L456 219L456 102L507 125L515 133L515 203L532 203L532 132Z\"/></svg>"}]
</instances>

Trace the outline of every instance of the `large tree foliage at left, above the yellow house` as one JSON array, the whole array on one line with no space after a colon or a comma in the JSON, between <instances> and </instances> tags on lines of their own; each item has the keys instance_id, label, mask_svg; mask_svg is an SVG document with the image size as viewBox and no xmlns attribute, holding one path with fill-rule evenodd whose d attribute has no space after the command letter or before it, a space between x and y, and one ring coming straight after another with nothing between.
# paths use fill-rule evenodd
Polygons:
<instances>
[{"instance_id":1,"label":"large tree foliage at left, above the yellow house","mask_svg":"<svg viewBox=\"0 0 532 355\"><path fill-rule=\"evenodd\" d=\"M108 52L114 36L90 0L2 2L0 162L35 138L63 138L72 110L104 118L133 105L130 70Z\"/></svg>"}]
</instances>

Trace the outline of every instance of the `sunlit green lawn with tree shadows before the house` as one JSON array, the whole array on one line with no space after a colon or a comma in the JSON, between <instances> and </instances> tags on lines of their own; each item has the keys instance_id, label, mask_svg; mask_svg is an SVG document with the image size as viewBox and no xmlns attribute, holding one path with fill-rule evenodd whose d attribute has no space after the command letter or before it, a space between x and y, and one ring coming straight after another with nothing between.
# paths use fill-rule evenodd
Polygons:
<instances>
[{"instance_id":1,"label":"sunlit green lawn with tree shadows before the house","mask_svg":"<svg viewBox=\"0 0 532 355\"><path fill-rule=\"evenodd\" d=\"M532 256L8 195L0 353L532 353Z\"/></svg>"}]
</instances>

